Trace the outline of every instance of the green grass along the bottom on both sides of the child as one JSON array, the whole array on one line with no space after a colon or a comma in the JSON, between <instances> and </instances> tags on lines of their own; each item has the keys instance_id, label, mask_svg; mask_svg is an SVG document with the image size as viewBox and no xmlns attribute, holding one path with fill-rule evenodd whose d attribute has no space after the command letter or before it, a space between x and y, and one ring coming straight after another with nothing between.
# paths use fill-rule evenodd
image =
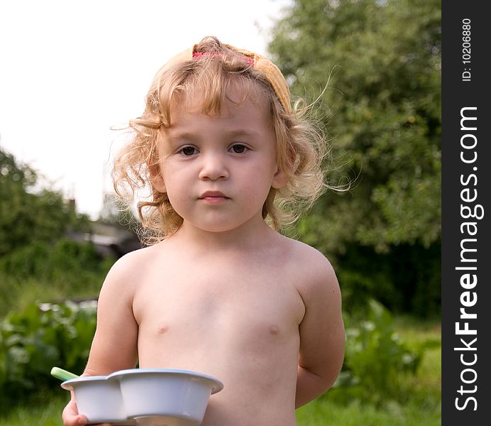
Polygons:
<instances>
[{"instance_id":1,"label":"green grass along the bottom on both sides of the child","mask_svg":"<svg viewBox=\"0 0 491 426\"><path fill-rule=\"evenodd\" d=\"M410 347L430 342L416 376L406 378L403 403L387 401L381 407L337 403L330 393L297 410L299 426L440 426L441 425L441 328L436 321L396 317L399 337ZM37 403L18 405L0 415L0 425L61 425L61 412L68 400L65 391L44 395Z\"/></svg>"}]
</instances>

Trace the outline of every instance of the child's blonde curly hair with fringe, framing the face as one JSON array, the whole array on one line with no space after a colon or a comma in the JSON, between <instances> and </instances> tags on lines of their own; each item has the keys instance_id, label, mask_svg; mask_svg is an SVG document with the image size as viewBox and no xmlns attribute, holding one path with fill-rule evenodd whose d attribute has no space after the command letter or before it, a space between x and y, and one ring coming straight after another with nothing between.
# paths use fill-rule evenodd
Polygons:
<instances>
[{"instance_id":1,"label":"child's blonde curly hair with fringe, framing the face","mask_svg":"<svg viewBox=\"0 0 491 426\"><path fill-rule=\"evenodd\" d=\"M283 105L270 80L235 48L206 37L194 46L194 52L198 58L171 60L160 68L145 98L145 111L129 122L131 138L116 153L111 174L116 194L130 205L137 192L140 195L140 190L150 189L147 199L140 195L138 200L147 244L174 234L183 219L172 208L167 194L153 187L150 173L159 162L160 131L172 126L172 102L199 88L202 112L219 114L231 84L241 90L243 99L253 87L259 88L272 114L277 166L288 177L285 187L271 188L263 205L263 219L279 231L295 222L327 187L322 168L327 153L325 138L304 118L308 107L303 99L293 107Z\"/></svg>"}]
</instances>

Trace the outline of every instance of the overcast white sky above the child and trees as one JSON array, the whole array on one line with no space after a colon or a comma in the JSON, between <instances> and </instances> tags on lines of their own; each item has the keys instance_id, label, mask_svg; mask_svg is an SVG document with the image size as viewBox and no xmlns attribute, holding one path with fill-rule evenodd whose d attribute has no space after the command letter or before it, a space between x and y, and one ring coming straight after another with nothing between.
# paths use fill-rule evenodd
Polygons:
<instances>
[{"instance_id":1,"label":"overcast white sky above the child and trees","mask_svg":"<svg viewBox=\"0 0 491 426\"><path fill-rule=\"evenodd\" d=\"M110 127L143 112L158 68L204 35L266 54L287 4L0 0L0 146L97 217Z\"/></svg>"}]
</instances>

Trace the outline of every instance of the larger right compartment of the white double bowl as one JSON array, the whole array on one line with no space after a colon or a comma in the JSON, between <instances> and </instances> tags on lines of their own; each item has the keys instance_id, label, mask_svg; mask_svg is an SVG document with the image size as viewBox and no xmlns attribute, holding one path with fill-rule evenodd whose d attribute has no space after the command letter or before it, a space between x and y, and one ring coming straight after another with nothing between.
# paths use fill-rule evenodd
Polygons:
<instances>
[{"instance_id":1,"label":"larger right compartment of the white double bowl","mask_svg":"<svg viewBox=\"0 0 491 426\"><path fill-rule=\"evenodd\" d=\"M184 370L134 368L108 378L119 381L128 418L143 426L199 425L210 395L224 388L214 377Z\"/></svg>"}]
</instances>

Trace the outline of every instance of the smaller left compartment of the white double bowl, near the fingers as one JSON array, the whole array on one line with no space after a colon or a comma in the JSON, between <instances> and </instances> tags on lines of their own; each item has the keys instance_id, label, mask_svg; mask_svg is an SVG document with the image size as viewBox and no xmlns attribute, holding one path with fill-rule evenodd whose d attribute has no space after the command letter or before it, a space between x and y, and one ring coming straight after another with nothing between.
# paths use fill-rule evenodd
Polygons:
<instances>
[{"instance_id":1,"label":"smaller left compartment of the white double bowl, near the fingers","mask_svg":"<svg viewBox=\"0 0 491 426\"><path fill-rule=\"evenodd\" d=\"M89 423L111 422L117 425L135 425L128 420L121 398L119 382L107 376L82 376L61 384L67 391L73 390L80 414Z\"/></svg>"}]
</instances>

